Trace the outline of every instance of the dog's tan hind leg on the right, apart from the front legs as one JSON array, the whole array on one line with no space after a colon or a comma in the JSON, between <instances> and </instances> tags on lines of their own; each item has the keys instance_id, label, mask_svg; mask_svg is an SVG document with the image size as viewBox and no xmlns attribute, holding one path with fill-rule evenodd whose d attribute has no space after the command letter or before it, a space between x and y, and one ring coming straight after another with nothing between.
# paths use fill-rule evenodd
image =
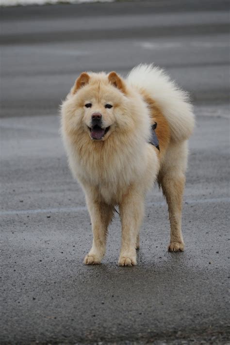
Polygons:
<instances>
[{"instance_id":1,"label":"dog's tan hind leg on the right, apart from the front legs","mask_svg":"<svg viewBox=\"0 0 230 345\"><path fill-rule=\"evenodd\" d=\"M182 198L185 185L185 169L187 164L187 147L174 148L165 157L165 163L158 176L164 197L168 204L170 220L169 251L183 251L184 242L181 232Z\"/></svg>"}]
</instances>

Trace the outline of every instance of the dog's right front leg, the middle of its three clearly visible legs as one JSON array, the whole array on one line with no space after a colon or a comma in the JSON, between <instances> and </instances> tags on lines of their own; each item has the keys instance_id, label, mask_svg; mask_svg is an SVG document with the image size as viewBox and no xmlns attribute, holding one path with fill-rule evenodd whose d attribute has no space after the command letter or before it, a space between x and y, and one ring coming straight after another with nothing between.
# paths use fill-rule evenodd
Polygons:
<instances>
[{"instance_id":1,"label":"dog's right front leg, the middle of its three clearly visible legs","mask_svg":"<svg viewBox=\"0 0 230 345\"><path fill-rule=\"evenodd\" d=\"M136 246L139 242L139 230L144 215L144 197L131 189L119 208L122 241L118 264L120 266L136 265Z\"/></svg>"}]
</instances>

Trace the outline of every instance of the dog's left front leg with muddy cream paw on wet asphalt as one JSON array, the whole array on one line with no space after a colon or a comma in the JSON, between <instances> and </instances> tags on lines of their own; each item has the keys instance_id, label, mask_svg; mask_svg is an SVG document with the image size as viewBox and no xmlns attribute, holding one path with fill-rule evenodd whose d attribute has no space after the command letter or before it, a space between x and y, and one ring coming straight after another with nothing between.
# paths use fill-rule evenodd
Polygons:
<instances>
[{"instance_id":1,"label":"dog's left front leg with muddy cream paw on wet asphalt","mask_svg":"<svg viewBox=\"0 0 230 345\"><path fill-rule=\"evenodd\" d=\"M90 198L87 200L87 205L94 236L92 248L84 258L84 263L89 265L100 263L105 255L106 234L113 217L114 208L104 203L92 201Z\"/></svg>"}]
</instances>

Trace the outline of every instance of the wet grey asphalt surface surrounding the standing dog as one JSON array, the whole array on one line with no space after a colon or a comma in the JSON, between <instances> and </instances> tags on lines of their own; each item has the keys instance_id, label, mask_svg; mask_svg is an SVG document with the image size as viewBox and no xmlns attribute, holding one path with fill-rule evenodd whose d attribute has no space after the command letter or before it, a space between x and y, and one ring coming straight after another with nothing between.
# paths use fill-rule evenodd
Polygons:
<instances>
[{"instance_id":1,"label":"wet grey asphalt surface surrounding the standing dog","mask_svg":"<svg viewBox=\"0 0 230 345\"><path fill-rule=\"evenodd\" d=\"M228 1L142 1L1 10L0 344L228 344ZM81 71L140 62L188 90L197 126L183 253L148 194L136 267L118 267L120 222L99 266L69 172L58 106Z\"/></svg>"}]
</instances>

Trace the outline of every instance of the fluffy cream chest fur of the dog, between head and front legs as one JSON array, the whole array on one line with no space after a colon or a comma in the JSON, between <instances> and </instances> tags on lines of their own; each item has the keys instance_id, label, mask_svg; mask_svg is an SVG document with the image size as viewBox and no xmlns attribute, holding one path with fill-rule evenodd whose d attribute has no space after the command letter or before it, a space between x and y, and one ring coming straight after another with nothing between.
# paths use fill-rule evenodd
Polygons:
<instances>
[{"instance_id":1,"label":"fluffy cream chest fur of the dog, between head and front legs","mask_svg":"<svg viewBox=\"0 0 230 345\"><path fill-rule=\"evenodd\" d=\"M125 147L101 152L77 151L70 156L70 166L86 189L95 191L98 199L107 204L118 204L129 186L141 180L146 170L146 155L137 153L137 150L134 152Z\"/></svg>"}]
</instances>

